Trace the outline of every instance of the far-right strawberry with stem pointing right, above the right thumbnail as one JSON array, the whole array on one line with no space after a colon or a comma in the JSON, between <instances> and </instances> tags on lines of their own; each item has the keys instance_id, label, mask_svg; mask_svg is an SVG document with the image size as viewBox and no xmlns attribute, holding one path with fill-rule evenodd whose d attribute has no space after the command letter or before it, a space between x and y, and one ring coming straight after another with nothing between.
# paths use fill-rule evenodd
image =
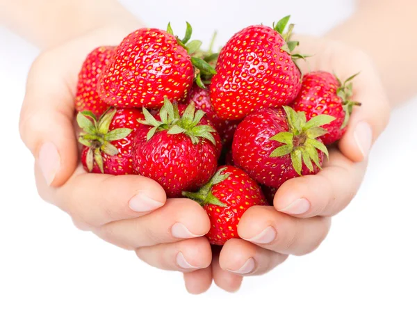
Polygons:
<instances>
[{"instance_id":1,"label":"far-right strawberry with stem pointing right, above the right thumbnail","mask_svg":"<svg viewBox=\"0 0 417 313\"><path fill-rule=\"evenodd\" d=\"M345 134L347 123L353 107L359 102L350 100L352 96L352 79L344 83L328 72L311 72L302 81L300 94L295 99L293 109L304 111L307 120L320 115L332 115L336 120L323 126L327 134L320 137L325 145L331 145Z\"/></svg>"}]
</instances>

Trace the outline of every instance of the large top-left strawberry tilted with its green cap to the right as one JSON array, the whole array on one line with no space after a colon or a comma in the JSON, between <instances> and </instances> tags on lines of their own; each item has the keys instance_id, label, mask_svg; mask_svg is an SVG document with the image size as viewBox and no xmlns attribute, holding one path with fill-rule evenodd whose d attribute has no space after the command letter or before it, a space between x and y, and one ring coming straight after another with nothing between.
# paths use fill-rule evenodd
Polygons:
<instances>
[{"instance_id":1,"label":"large top-left strawberry tilted with its green cap to the right","mask_svg":"<svg viewBox=\"0 0 417 313\"><path fill-rule=\"evenodd\" d=\"M160 29L138 29L117 47L111 62L99 80L99 95L117 107L146 107L160 109L163 99L184 101L193 85L195 70L215 73L201 58L190 56L202 45L190 40L187 23L186 37L179 40ZM187 44L187 45L186 45Z\"/></svg>"}]
</instances>

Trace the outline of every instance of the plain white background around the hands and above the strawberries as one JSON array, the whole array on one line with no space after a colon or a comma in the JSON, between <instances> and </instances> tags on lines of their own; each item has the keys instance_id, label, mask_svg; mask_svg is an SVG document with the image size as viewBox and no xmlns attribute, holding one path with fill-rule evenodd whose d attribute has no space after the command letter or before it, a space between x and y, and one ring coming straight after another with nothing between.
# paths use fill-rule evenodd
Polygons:
<instances>
[{"instance_id":1,"label":"plain white background around the hands and above the strawberries","mask_svg":"<svg viewBox=\"0 0 417 313\"><path fill-rule=\"evenodd\" d=\"M218 29L219 45L288 13L298 32L320 35L353 10L344 0L122 2L150 26L171 21L181 33L188 20L206 41ZM0 312L417 312L417 99L393 113L357 198L316 252L245 278L236 294L213 286L190 296L181 274L76 230L38 197L17 127L37 54L0 29Z\"/></svg>"}]
</instances>

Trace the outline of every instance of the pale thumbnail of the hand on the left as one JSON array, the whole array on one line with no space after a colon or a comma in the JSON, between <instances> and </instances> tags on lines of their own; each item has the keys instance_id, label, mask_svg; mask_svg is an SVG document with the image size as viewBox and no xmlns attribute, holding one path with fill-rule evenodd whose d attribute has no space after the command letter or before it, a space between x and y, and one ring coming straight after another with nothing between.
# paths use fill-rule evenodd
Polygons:
<instances>
[{"instance_id":1,"label":"pale thumbnail of the hand on the left","mask_svg":"<svg viewBox=\"0 0 417 313\"><path fill-rule=\"evenodd\" d=\"M60 156L54 143L44 143L40 147L38 161L42 175L47 181L48 186L54 182L56 172L60 168Z\"/></svg>"}]
</instances>

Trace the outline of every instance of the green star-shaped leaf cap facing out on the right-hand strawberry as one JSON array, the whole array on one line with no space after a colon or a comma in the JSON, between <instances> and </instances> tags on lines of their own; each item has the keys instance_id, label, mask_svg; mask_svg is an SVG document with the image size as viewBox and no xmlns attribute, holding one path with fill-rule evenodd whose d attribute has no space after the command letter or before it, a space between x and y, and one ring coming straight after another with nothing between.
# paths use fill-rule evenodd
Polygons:
<instances>
[{"instance_id":1,"label":"green star-shaped leaf cap facing out on the right-hand strawberry","mask_svg":"<svg viewBox=\"0 0 417 313\"><path fill-rule=\"evenodd\" d=\"M327 134L327 131L320 126L333 122L335 118L330 115L317 115L306 121L304 112L296 112L289 106L284 106L288 120L288 131L272 136L270 141L283 143L270 154L270 157L284 157L291 154L293 168L298 175L302 175L302 164L304 163L311 172L314 171L313 163L321 169L318 150L329 157L327 147L317 138Z\"/></svg>"}]
</instances>

